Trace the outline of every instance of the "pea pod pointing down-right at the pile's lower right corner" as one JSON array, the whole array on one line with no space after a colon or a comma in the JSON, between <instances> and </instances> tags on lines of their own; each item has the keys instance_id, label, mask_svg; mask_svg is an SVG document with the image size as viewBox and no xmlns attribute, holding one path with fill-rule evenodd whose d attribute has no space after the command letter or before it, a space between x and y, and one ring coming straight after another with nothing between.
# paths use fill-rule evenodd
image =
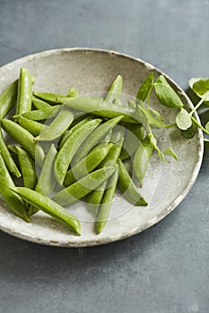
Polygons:
<instances>
[{"instance_id":1,"label":"pea pod pointing down-right at the pile's lower right corner","mask_svg":"<svg viewBox=\"0 0 209 313\"><path fill-rule=\"evenodd\" d=\"M118 187L123 192L123 196L135 206L147 206L148 203L144 200L143 196L135 187L135 183L126 170L126 166L119 158L118 170Z\"/></svg>"}]
</instances>

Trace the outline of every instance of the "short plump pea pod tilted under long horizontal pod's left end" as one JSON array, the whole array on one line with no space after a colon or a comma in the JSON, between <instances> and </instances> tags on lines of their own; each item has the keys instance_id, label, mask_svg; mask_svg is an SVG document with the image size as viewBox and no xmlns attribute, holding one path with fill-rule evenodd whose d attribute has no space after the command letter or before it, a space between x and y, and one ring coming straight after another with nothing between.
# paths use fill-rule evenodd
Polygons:
<instances>
[{"instance_id":1,"label":"short plump pea pod tilted under long horizontal pod's left end","mask_svg":"<svg viewBox=\"0 0 209 313\"><path fill-rule=\"evenodd\" d=\"M52 141L59 138L74 121L74 114L69 110L69 107L62 106L57 114L56 118L48 125L44 127L39 133L39 136L35 138L38 141Z\"/></svg>"}]
</instances>

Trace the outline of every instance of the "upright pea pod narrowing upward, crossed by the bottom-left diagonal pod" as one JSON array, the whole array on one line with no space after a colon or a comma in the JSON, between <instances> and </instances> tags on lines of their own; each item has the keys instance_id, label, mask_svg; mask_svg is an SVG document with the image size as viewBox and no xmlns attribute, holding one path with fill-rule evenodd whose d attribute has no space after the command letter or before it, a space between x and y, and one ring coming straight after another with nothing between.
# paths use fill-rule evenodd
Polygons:
<instances>
[{"instance_id":1,"label":"upright pea pod narrowing upward, crossed by the bottom-left diagonal pod","mask_svg":"<svg viewBox=\"0 0 209 313\"><path fill-rule=\"evenodd\" d=\"M56 178L54 174L55 158L57 156L57 149L52 144L48 149L48 154L44 159L44 164L39 173L39 182L36 185L35 191L49 197L56 185ZM37 207L30 206L29 215L38 212Z\"/></svg>"}]
</instances>

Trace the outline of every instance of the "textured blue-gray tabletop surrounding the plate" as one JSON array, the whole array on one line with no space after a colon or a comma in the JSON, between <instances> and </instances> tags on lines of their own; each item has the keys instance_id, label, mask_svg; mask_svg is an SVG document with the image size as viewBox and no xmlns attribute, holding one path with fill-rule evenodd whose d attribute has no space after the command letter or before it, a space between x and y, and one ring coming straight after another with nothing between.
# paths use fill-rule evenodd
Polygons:
<instances>
[{"instance_id":1,"label":"textured blue-gray tabletop surrounding the plate","mask_svg":"<svg viewBox=\"0 0 209 313\"><path fill-rule=\"evenodd\" d=\"M187 89L209 77L208 0L0 0L0 65L57 47L110 48ZM196 184L160 224L85 250L0 233L0 312L208 312L209 152Z\"/></svg>"}]
</instances>

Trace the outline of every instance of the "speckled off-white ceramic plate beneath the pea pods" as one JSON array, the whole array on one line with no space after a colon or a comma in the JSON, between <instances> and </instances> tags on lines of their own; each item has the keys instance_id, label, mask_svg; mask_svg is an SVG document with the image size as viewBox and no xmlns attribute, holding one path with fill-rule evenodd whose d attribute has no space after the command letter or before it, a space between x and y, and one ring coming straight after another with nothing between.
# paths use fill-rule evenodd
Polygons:
<instances>
[{"instance_id":1,"label":"speckled off-white ceramic plate beneath the pea pods","mask_svg":"<svg viewBox=\"0 0 209 313\"><path fill-rule=\"evenodd\" d=\"M0 92L19 76L21 67L26 67L36 77L35 90L65 93L69 87L75 87L80 94L107 90L110 82L120 73L124 78L124 93L135 96L149 72L154 72L156 77L161 73L151 64L128 55L88 48L66 48L29 55L4 65L0 68ZM167 79L182 101L192 108L184 91L169 77ZM151 106L160 107L155 97L152 97ZM170 122L174 111L163 107L161 114ZM0 229L27 241L60 247L83 247L118 241L151 227L186 197L196 181L204 148L201 131L197 131L193 139L185 140L173 128L160 131L158 138L162 148L171 144L179 156L178 161L164 164L153 154L141 191L149 206L133 207L117 193L109 222L100 235L94 233L94 217L82 202L68 208L82 221L80 237L43 213L33 216L31 223L27 224L14 216L3 200L0 201Z\"/></svg>"}]
</instances>

